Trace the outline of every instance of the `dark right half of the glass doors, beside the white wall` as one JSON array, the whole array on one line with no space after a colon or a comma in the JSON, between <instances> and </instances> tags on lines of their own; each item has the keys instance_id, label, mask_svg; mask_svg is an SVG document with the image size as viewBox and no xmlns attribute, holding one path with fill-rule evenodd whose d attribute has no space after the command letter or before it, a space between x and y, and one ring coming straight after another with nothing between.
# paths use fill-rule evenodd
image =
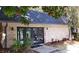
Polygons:
<instances>
[{"instance_id":1,"label":"dark right half of the glass doors, beside the white wall","mask_svg":"<svg viewBox=\"0 0 79 59\"><path fill-rule=\"evenodd\" d=\"M43 28L32 28L31 32L32 32L32 40L34 44L40 44L44 42Z\"/></svg>"}]
</instances>

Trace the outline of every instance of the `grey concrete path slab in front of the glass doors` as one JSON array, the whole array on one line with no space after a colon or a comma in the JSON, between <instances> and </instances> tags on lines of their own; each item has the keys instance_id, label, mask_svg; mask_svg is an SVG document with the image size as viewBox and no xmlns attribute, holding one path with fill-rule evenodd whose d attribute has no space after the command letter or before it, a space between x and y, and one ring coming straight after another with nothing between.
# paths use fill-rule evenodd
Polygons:
<instances>
[{"instance_id":1,"label":"grey concrete path slab in front of the glass doors","mask_svg":"<svg viewBox=\"0 0 79 59\"><path fill-rule=\"evenodd\" d=\"M43 46L40 46L40 47L33 48L32 50L36 51L38 53L52 53L52 52L55 52L55 51L59 51L60 49L43 45Z\"/></svg>"}]
</instances>

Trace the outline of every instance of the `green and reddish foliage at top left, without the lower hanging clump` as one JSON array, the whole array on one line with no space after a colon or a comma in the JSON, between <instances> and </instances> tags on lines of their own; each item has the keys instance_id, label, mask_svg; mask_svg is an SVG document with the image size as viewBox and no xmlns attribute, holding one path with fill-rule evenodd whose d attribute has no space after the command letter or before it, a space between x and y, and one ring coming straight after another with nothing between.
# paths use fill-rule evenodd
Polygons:
<instances>
[{"instance_id":1,"label":"green and reddish foliage at top left, without the lower hanging clump","mask_svg":"<svg viewBox=\"0 0 79 59\"><path fill-rule=\"evenodd\" d=\"M26 7L26 6L22 6L22 7L6 6L6 7L2 7L2 11L8 17L12 17L12 16L16 15L17 13L19 15L25 15L28 10L29 10L29 8Z\"/></svg>"}]
</instances>

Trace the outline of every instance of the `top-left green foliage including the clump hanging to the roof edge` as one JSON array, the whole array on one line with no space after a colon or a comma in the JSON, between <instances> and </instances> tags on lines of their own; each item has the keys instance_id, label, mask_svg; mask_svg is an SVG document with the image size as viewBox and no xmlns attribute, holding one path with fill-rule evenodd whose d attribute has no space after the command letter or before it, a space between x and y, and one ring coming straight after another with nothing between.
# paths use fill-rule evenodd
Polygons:
<instances>
[{"instance_id":1,"label":"top-left green foliage including the clump hanging to the roof edge","mask_svg":"<svg viewBox=\"0 0 79 59\"><path fill-rule=\"evenodd\" d=\"M2 11L4 12L4 14L6 16L8 16L9 18L13 17L14 15L19 15L19 16L25 16L25 14L27 13L27 11L29 10L30 7L27 6L5 6L2 7ZM21 17L20 21L22 24L29 24L30 21L27 20L27 18L25 17Z\"/></svg>"}]
</instances>

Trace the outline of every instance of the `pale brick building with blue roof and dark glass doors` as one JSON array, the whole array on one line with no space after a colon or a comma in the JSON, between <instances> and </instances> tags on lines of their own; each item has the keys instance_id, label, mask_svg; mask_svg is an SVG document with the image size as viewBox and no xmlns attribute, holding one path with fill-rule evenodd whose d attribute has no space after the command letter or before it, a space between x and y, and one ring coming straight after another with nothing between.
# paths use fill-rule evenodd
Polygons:
<instances>
[{"instance_id":1,"label":"pale brick building with blue roof and dark glass doors","mask_svg":"<svg viewBox=\"0 0 79 59\"><path fill-rule=\"evenodd\" d=\"M67 19L65 16L55 19L46 13L30 10L27 13L31 23L24 25L19 22L19 16L8 18L0 12L0 22L5 28L7 24L7 47L13 44L14 39L22 41L25 37L30 37L33 43L41 44L62 40L69 37ZM13 20L12 20L13 19Z\"/></svg>"}]
</instances>

